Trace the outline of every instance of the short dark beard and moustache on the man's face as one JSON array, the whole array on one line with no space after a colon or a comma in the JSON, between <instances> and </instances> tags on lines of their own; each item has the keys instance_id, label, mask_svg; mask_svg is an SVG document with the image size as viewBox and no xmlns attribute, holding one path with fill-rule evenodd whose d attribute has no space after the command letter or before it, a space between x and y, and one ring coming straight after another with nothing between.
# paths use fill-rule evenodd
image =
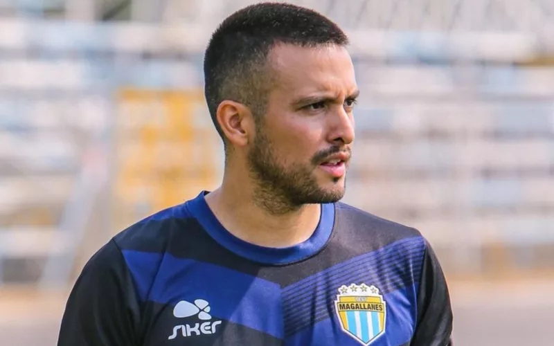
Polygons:
<instances>
[{"instance_id":1,"label":"short dark beard and moustache on the man's face","mask_svg":"<svg viewBox=\"0 0 554 346\"><path fill-rule=\"evenodd\" d=\"M334 203L344 190L325 191L313 176L313 168L321 160L340 152L338 147L317 153L312 165L298 165L287 169L280 165L271 143L262 129L256 134L256 142L248 154L250 176L256 182L254 201L272 215L283 215L300 209L304 204ZM334 179L337 183L339 179Z\"/></svg>"}]
</instances>

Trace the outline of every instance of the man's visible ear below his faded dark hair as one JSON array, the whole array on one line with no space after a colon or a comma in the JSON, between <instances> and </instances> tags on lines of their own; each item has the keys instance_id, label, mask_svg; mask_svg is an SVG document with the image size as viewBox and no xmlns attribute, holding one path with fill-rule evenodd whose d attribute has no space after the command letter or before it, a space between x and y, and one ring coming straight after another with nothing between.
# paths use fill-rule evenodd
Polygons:
<instances>
[{"instance_id":1,"label":"man's visible ear below his faded dark hair","mask_svg":"<svg viewBox=\"0 0 554 346\"><path fill-rule=\"evenodd\" d=\"M217 122L232 145L244 147L253 136L255 128L252 112L244 104L224 100L217 107Z\"/></svg>"}]
</instances>

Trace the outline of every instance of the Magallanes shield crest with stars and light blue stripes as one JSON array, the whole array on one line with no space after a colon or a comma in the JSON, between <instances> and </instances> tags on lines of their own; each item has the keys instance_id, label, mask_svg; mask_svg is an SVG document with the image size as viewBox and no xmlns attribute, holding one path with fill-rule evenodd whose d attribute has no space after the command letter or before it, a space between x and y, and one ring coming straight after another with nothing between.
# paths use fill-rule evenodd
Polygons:
<instances>
[{"instance_id":1,"label":"Magallanes shield crest with stars and light blue stripes","mask_svg":"<svg viewBox=\"0 0 554 346\"><path fill-rule=\"evenodd\" d=\"M370 345L385 333L386 302L377 287L343 285L334 307L342 330L362 345Z\"/></svg>"}]
</instances>

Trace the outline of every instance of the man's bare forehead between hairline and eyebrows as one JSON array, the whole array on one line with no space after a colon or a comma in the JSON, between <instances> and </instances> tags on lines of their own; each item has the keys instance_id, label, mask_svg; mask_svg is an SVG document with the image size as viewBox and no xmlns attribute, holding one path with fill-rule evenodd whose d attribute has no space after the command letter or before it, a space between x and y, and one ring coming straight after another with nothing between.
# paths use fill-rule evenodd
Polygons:
<instances>
[{"instance_id":1,"label":"man's bare forehead between hairline and eyebrows","mask_svg":"<svg viewBox=\"0 0 554 346\"><path fill-rule=\"evenodd\" d=\"M274 89L291 96L321 91L342 94L357 89L352 60L342 46L278 44L269 53L268 62Z\"/></svg>"}]
</instances>

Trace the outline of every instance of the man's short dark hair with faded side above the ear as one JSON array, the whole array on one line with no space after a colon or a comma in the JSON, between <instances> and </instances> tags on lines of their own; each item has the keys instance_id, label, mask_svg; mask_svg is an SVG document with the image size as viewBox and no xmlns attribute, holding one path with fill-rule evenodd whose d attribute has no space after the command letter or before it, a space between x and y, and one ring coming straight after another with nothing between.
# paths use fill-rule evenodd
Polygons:
<instances>
[{"instance_id":1,"label":"man's short dark hair with faded side above the ear","mask_svg":"<svg viewBox=\"0 0 554 346\"><path fill-rule=\"evenodd\" d=\"M348 45L347 35L314 10L289 3L257 3L227 17L213 33L204 56L204 94L212 121L223 100L263 113L269 88L267 56L275 44Z\"/></svg>"}]
</instances>

